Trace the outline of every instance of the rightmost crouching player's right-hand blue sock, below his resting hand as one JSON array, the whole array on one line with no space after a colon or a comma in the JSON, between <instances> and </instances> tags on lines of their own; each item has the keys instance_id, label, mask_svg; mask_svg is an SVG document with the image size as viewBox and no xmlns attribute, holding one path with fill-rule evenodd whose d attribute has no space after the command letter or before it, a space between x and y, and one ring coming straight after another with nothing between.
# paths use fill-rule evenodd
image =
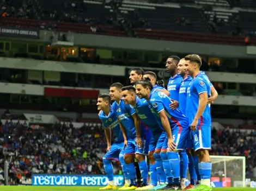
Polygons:
<instances>
[{"instance_id":1,"label":"rightmost crouching player's right-hand blue sock, below his resting hand","mask_svg":"<svg viewBox=\"0 0 256 191\"><path fill-rule=\"evenodd\" d=\"M180 183L180 160L178 152L167 152L175 184Z\"/></svg>"}]
</instances>

